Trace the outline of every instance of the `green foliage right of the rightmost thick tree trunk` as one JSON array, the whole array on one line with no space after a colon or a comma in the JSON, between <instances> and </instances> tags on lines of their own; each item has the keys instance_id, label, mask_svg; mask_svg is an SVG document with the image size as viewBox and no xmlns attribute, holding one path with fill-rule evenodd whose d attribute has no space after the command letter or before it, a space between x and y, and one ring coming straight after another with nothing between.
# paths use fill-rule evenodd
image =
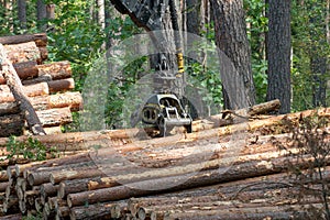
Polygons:
<instances>
[{"instance_id":1,"label":"green foliage right of the rightmost thick tree trunk","mask_svg":"<svg viewBox=\"0 0 330 220\"><path fill-rule=\"evenodd\" d=\"M319 86L312 80L315 74L311 58L330 58L330 45L326 36L326 1L293 1L293 109L299 111L312 108L314 87ZM330 73L323 76L328 80ZM328 98L329 99L329 98ZM328 100L329 102L329 100Z\"/></svg>"}]
</instances>

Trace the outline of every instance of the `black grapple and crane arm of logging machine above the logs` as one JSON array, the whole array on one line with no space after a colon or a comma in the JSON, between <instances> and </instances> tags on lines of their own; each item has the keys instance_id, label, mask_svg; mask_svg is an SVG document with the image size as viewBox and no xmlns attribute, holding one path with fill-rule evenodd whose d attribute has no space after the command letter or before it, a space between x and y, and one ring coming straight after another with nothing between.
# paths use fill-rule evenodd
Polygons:
<instances>
[{"instance_id":1,"label":"black grapple and crane arm of logging machine above the logs","mask_svg":"<svg viewBox=\"0 0 330 220\"><path fill-rule=\"evenodd\" d=\"M169 9L178 69L177 72L170 70L172 67L166 58L168 56L157 54L157 67L153 76L154 94L136 113L138 120L135 121L141 120L145 124L155 125L161 136L165 136L173 127L185 127L190 133L193 119L182 105L184 57L175 0L111 0L111 2L120 13L129 14L138 26L144 28L151 35L153 31L164 31L162 20L165 11ZM163 46L166 37L157 35L152 38L156 46Z\"/></svg>"}]
</instances>

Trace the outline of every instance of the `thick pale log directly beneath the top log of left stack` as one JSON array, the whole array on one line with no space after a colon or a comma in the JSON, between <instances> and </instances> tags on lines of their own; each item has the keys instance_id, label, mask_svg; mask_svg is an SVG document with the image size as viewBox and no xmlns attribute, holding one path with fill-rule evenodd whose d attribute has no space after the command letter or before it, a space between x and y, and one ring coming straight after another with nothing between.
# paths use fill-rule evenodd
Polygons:
<instances>
[{"instance_id":1,"label":"thick pale log directly beneath the top log of left stack","mask_svg":"<svg viewBox=\"0 0 330 220\"><path fill-rule=\"evenodd\" d=\"M12 64L23 62L40 62L41 51L35 42L26 42L21 44L6 45L4 46L8 58Z\"/></svg>"}]
</instances>

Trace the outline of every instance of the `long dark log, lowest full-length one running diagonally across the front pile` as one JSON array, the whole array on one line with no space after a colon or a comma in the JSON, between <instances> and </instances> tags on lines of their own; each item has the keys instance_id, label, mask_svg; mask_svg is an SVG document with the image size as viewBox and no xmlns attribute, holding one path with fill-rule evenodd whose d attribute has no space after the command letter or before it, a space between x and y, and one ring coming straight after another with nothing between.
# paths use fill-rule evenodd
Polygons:
<instances>
[{"instance_id":1,"label":"long dark log, lowest full-length one running diagonally across the front pile","mask_svg":"<svg viewBox=\"0 0 330 220\"><path fill-rule=\"evenodd\" d=\"M253 176L270 175L283 172L286 168L285 162L287 160L287 157L282 157L266 161L251 161L243 164L234 164L230 168L223 167L199 172L197 174L169 176L127 184L118 187L69 194L67 196L67 204L69 207L75 207L81 206L85 202L95 204L102 201L113 201L127 199L130 197L152 195L155 193L160 194L165 191L183 190L194 187L249 178ZM297 163L293 158L292 162ZM177 185L175 186L174 183L177 183Z\"/></svg>"}]
</instances>

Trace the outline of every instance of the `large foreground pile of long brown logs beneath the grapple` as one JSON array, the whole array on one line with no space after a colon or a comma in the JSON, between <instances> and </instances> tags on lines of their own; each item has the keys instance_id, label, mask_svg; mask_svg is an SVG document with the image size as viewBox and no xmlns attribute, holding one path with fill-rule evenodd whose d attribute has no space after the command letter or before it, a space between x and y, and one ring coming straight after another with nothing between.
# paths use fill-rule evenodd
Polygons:
<instances>
[{"instance_id":1,"label":"large foreground pile of long brown logs beneath the grapple","mask_svg":"<svg viewBox=\"0 0 330 220\"><path fill-rule=\"evenodd\" d=\"M198 132L151 140L134 139L136 129L61 134L67 150L80 151L84 144L86 152L8 166L0 179L3 218L304 219L310 206L323 204L312 194L293 196L300 188L288 178L288 163L304 173L312 156L295 158L299 148L285 121L297 124L315 113L220 128L199 121ZM330 109L317 114L329 119ZM37 136L48 146L58 141L46 138ZM7 141L0 139L0 146ZM324 141L329 144L329 135ZM330 164L322 172L329 182ZM320 182L308 185L321 188Z\"/></svg>"}]
</instances>

